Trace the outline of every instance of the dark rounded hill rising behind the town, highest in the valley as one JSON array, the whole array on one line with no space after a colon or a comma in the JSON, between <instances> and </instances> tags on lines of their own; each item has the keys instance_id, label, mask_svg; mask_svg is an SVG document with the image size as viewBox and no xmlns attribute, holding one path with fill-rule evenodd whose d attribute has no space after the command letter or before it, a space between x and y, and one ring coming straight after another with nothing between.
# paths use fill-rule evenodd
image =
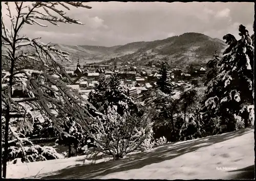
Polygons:
<instances>
[{"instance_id":1,"label":"dark rounded hill rising behind the town, highest in the valley","mask_svg":"<svg viewBox=\"0 0 256 181\"><path fill-rule=\"evenodd\" d=\"M218 38L210 38L200 33L185 33L164 40L149 42L122 60L146 63L154 60L166 60L172 65L184 63L205 64L217 50L222 53L227 45Z\"/></svg>"}]
</instances>

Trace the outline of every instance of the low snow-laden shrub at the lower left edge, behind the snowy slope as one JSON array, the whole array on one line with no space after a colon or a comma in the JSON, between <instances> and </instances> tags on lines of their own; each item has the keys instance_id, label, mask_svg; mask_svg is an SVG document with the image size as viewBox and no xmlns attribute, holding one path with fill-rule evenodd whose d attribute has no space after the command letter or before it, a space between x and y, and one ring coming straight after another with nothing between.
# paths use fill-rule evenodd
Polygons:
<instances>
[{"instance_id":1,"label":"low snow-laden shrub at the lower left edge, behind the snowy slope","mask_svg":"<svg viewBox=\"0 0 256 181\"><path fill-rule=\"evenodd\" d=\"M10 146L8 149L8 162L12 163L16 163L17 159L21 159L21 162L37 162L61 158L63 158L63 156L50 146L41 147L34 145L30 147L25 146L23 149Z\"/></svg>"}]
</instances>

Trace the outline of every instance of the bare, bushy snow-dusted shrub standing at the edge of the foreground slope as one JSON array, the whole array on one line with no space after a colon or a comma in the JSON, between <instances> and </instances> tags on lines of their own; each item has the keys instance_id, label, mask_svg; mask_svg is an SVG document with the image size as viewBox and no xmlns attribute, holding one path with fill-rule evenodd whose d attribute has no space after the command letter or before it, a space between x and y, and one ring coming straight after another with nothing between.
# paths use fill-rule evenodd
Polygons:
<instances>
[{"instance_id":1,"label":"bare, bushy snow-dusted shrub standing at the edge of the foreground slope","mask_svg":"<svg viewBox=\"0 0 256 181\"><path fill-rule=\"evenodd\" d=\"M90 134L97 146L95 151L108 154L114 160L140 148L151 137L151 119L147 114L138 116L117 113L117 107L109 107L106 116L92 122L95 134ZM146 146L146 145L145 145Z\"/></svg>"}]
</instances>

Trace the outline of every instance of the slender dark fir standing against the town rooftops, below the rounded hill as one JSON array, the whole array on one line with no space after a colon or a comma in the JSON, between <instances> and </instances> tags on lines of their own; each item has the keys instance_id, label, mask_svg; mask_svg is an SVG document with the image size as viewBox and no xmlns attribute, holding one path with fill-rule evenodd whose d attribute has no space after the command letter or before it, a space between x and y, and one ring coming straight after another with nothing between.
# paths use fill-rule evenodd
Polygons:
<instances>
[{"instance_id":1,"label":"slender dark fir standing against the town rooftops, below the rounded hill","mask_svg":"<svg viewBox=\"0 0 256 181\"><path fill-rule=\"evenodd\" d=\"M162 68L159 70L161 76L157 81L157 85L159 86L160 90L165 94L169 94L173 91L173 88L169 83L170 79L167 70L168 64L166 62L162 62Z\"/></svg>"}]
</instances>

